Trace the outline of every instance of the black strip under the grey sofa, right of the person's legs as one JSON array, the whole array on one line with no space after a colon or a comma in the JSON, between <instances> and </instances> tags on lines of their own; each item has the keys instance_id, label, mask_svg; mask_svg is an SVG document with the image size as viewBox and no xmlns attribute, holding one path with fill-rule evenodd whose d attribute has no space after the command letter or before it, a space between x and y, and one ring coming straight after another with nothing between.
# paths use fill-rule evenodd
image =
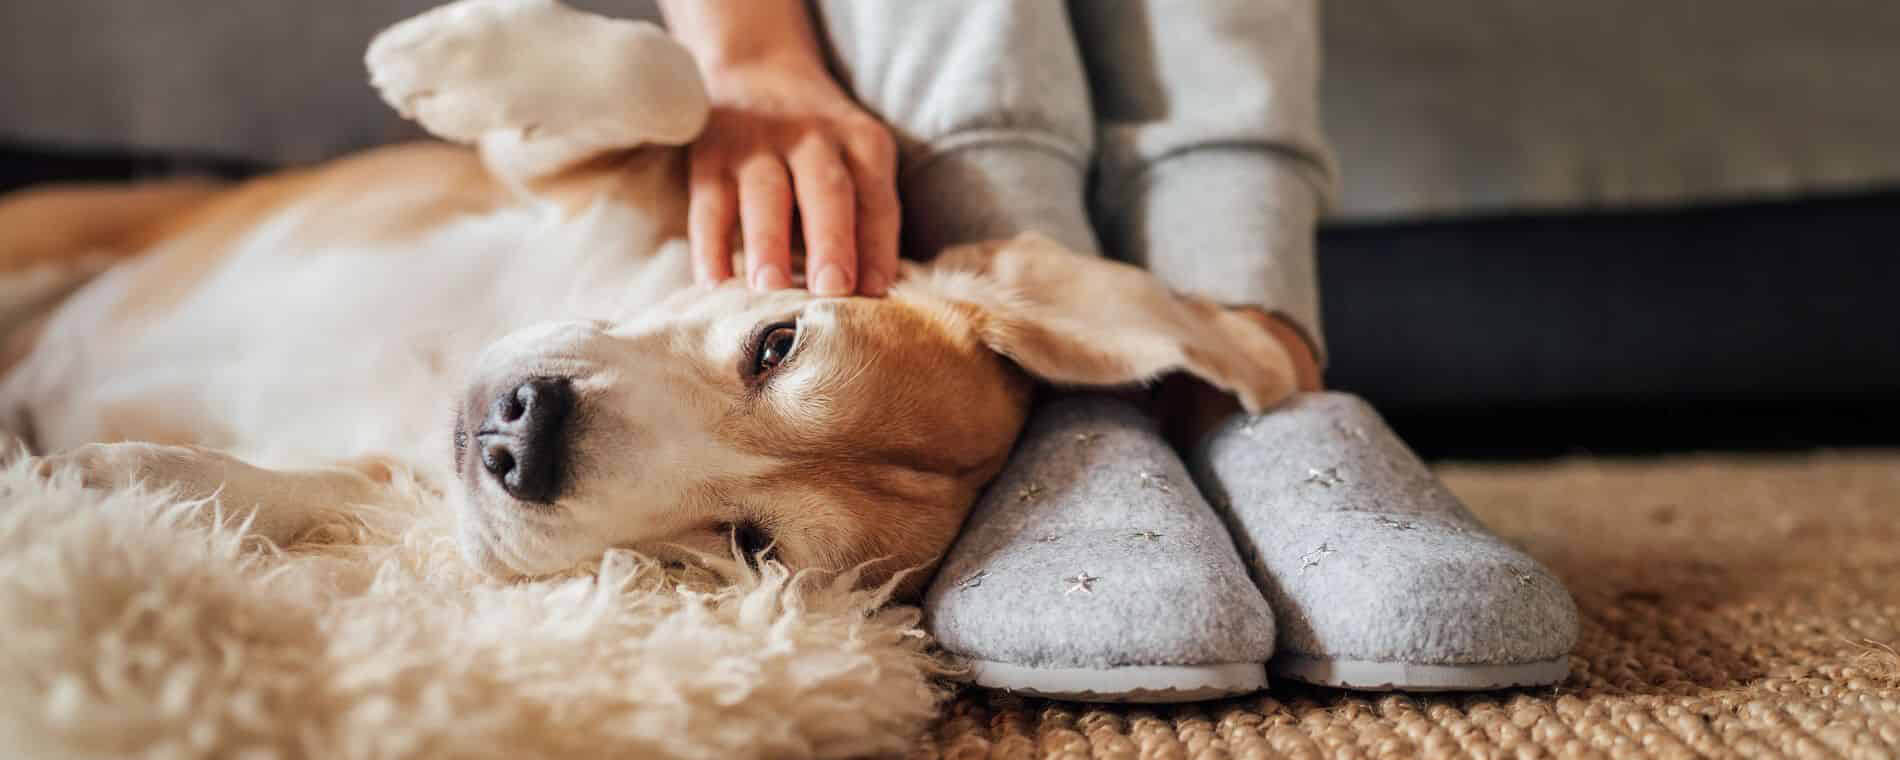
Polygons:
<instances>
[{"instance_id":1,"label":"black strip under the grey sofa, right of the person's legs","mask_svg":"<svg viewBox=\"0 0 1900 760\"><path fill-rule=\"evenodd\" d=\"M1896 220L1900 190L1328 228L1328 382L1433 454L1900 445Z\"/></svg>"}]
</instances>

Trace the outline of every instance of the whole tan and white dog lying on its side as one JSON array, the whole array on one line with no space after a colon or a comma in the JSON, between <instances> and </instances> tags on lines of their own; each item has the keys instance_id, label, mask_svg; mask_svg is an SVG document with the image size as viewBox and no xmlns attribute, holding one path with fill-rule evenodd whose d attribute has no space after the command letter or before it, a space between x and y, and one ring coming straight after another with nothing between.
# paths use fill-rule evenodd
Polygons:
<instances>
[{"instance_id":1,"label":"whole tan and white dog lying on its side","mask_svg":"<svg viewBox=\"0 0 1900 760\"><path fill-rule=\"evenodd\" d=\"M884 581L948 549L1037 382L1292 391L1258 323L1036 236L904 262L885 298L694 285L707 99L657 27L466 0L369 63L446 141L0 201L6 277L61 293L0 353L42 471L217 498L276 543L401 475L496 578L737 545Z\"/></svg>"}]
</instances>

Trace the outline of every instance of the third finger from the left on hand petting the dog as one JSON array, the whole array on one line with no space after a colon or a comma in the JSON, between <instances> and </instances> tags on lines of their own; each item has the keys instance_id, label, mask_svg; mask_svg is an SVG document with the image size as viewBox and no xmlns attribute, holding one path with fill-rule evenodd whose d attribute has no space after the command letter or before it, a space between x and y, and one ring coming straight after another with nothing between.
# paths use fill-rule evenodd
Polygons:
<instances>
[{"instance_id":1,"label":"third finger from the left on hand petting the dog","mask_svg":"<svg viewBox=\"0 0 1900 760\"><path fill-rule=\"evenodd\" d=\"M806 287L819 296L857 289L857 192L828 141L804 141L790 154L792 190L806 232Z\"/></svg>"}]
</instances>

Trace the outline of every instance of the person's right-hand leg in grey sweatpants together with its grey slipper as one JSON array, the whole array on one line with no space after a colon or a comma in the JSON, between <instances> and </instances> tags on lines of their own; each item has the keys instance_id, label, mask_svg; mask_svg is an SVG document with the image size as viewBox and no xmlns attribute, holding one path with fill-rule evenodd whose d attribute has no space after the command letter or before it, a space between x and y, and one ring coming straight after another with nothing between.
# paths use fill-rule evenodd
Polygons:
<instances>
[{"instance_id":1,"label":"person's right-hand leg in grey sweatpants together with its grey slipper","mask_svg":"<svg viewBox=\"0 0 1900 760\"><path fill-rule=\"evenodd\" d=\"M1074 11L1108 251L1178 289L1256 304L1319 355L1313 232L1334 171L1317 2ZM1296 395L1205 435L1191 462L1273 604L1277 673L1421 690L1564 676L1577 618L1562 583L1486 532L1362 401Z\"/></svg>"}]
</instances>

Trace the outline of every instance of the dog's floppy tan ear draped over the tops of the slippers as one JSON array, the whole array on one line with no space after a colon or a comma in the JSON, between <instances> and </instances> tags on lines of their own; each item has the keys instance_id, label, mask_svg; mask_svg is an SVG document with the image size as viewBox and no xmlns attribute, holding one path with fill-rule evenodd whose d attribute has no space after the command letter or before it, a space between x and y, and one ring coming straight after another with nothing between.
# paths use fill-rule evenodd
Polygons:
<instances>
[{"instance_id":1,"label":"dog's floppy tan ear draped over the tops of the slippers","mask_svg":"<svg viewBox=\"0 0 1900 760\"><path fill-rule=\"evenodd\" d=\"M990 350L1058 386L1189 372L1239 397L1248 412L1294 391L1292 357L1260 323L1049 238L952 247L918 274L971 308Z\"/></svg>"}]
</instances>

